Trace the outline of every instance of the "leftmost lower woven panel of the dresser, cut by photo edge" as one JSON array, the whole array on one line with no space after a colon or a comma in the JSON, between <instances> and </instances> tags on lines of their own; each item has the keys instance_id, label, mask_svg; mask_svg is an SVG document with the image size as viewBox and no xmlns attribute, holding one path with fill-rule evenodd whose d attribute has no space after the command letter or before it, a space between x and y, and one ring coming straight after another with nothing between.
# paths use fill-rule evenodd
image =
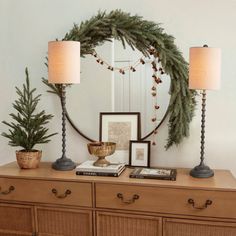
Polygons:
<instances>
[{"instance_id":1,"label":"leftmost lower woven panel of the dresser, cut by photo edge","mask_svg":"<svg viewBox=\"0 0 236 236\"><path fill-rule=\"evenodd\" d=\"M33 221L31 207L0 204L0 236L32 235Z\"/></svg>"}]
</instances>

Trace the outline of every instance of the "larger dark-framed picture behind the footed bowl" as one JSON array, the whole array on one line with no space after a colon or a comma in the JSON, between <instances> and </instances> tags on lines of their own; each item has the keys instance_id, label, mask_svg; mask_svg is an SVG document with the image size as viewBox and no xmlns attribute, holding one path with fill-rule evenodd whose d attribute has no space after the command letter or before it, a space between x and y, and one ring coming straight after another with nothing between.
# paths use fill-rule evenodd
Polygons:
<instances>
[{"instance_id":1,"label":"larger dark-framed picture behind the footed bowl","mask_svg":"<svg viewBox=\"0 0 236 236\"><path fill-rule=\"evenodd\" d=\"M116 151L107 157L113 163L129 164L129 141L141 136L140 112L101 112L99 140L115 142Z\"/></svg>"}]
</instances>

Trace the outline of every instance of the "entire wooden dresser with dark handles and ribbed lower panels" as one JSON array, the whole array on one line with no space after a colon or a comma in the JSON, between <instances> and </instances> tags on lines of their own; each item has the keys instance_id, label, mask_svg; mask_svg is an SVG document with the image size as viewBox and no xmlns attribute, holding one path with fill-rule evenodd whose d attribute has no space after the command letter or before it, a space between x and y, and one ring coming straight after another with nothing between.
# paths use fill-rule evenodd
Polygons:
<instances>
[{"instance_id":1,"label":"entire wooden dresser with dark handles and ribbed lower panels","mask_svg":"<svg viewBox=\"0 0 236 236\"><path fill-rule=\"evenodd\" d=\"M76 176L50 163L0 167L0 236L236 236L236 180L226 170L177 181Z\"/></svg>"}]
</instances>

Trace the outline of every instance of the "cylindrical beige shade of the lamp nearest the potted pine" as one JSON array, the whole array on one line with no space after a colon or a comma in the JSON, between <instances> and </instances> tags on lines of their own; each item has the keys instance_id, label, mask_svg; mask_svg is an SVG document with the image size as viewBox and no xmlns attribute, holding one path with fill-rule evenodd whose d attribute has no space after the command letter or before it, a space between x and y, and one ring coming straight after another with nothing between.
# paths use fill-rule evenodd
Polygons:
<instances>
[{"instance_id":1,"label":"cylindrical beige shade of the lamp nearest the potted pine","mask_svg":"<svg viewBox=\"0 0 236 236\"><path fill-rule=\"evenodd\" d=\"M53 84L80 83L80 43L52 41L48 43L48 81Z\"/></svg>"}]
</instances>

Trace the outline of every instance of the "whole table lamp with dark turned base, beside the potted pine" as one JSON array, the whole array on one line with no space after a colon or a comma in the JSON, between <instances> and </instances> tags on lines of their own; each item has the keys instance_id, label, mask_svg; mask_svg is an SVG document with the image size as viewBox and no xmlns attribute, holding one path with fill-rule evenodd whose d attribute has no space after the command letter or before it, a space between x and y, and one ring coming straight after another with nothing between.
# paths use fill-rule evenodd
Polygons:
<instances>
[{"instance_id":1,"label":"whole table lamp with dark turned base, beside the potted pine","mask_svg":"<svg viewBox=\"0 0 236 236\"><path fill-rule=\"evenodd\" d=\"M80 43L76 41L52 41L48 43L48 81L61 84L62 105L62 156L52 168L72 170L75 163L66 157L66 84L80 83Z\"/></svg>"}]
</instances>

